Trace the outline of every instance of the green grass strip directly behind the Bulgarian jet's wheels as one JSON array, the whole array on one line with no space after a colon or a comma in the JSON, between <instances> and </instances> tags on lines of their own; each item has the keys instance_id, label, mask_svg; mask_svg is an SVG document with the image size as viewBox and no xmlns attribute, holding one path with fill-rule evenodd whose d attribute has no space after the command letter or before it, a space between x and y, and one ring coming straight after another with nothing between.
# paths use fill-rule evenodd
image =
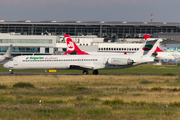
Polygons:
<instances>
[{"instance_id":1,"label":"green grass strip directly behind the Bulgarian jet's wheels","mask_svg":"<svg viewBox=\"0 0 180 120\"><path fill-rule=\"evenodd\" d=\"M105 69L99 70L99 74L163 74L163 75L174 75L179 74L180 66L173 65L139 65L131 68L125 69ZM0 66L0 72L9 72L4 69L2 65ZM24 73L45 73L45 70L14 70L14 73L24 72ZM48 70L47 70L48 72ZM57 73L69 73L69 74L81 74L82 70L57 70ZM92 74L92 70L89 70Z\"/></svg>"}]
</instances>

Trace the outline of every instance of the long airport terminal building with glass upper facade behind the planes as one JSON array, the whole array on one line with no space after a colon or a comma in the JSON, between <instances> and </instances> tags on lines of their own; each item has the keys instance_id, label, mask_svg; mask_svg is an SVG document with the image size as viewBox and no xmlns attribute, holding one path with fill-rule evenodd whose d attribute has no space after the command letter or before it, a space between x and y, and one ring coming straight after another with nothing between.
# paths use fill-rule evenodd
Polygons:
<instances>
[{"instance_id":1,"label":"long airport terminal building with glass upper facade behind the planes","mask_svg":"<svg viewBox=\"0 0 180 120\"><path fill-rule=\"evenodd\" d=\"M14 46L13 54L54 54L56 51L65 51L64 34L69 34L77 45L86 51L135 52L142 45L144 34L151 37L159 37L158 34L161 34L161 37L171 34L178 36L180 24L1 20L0 33L0 53L6 51L10 44ZM174 38L168 37L173 40ZM176 47L174 49L177 50L180 47L179 41L177 38L175 42L163 43L162 48L167 51Z\"/></svg>"}]
</instances>

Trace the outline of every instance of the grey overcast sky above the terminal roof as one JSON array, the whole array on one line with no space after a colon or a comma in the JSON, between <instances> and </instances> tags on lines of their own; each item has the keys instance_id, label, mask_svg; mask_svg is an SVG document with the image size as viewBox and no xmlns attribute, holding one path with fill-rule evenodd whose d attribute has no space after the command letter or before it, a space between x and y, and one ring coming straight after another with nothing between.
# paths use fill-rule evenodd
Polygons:
<instances>
[{"instance_id":1,"label":"grey overcast sky above the terminal roof","mask_svg":"<svg viewBox=\"0 0 180 120\"><path fill-rule=\"evenodd\" d=\"M0 0L6 21L126 21L180 23L180 0Z\"/></svg>"}]
</instances>

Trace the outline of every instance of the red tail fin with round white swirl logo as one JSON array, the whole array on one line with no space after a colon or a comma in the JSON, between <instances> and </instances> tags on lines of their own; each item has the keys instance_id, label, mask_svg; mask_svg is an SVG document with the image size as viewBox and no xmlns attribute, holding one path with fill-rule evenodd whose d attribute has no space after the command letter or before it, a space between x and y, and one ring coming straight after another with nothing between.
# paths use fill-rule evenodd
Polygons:
<instances>
[{"instance_id":1,"label":"red tail fin with round white swirl logo","mask_svg":"<svg viewBox=\"0 0 180 120\"><path fill-rule=\"evenodd\" d=\"M76 45L76 43L70 38L69 35L64 35L64 38L66 40L67 48L68 48L66 53L76 54L76 55L89 55L88 53L80 50L79 47Z\"/></svg>"}]
</instances>

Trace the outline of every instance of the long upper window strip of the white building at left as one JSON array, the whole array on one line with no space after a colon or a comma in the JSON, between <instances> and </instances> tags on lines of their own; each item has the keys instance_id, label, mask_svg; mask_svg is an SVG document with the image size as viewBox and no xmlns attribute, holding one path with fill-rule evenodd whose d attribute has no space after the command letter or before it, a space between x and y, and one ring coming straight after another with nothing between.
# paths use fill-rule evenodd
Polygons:
<instances>
[{"instance_id":1,"label":"long upper window strip of the white building at left","mask_svg":"<svg viewBox=\"0 0 180 120\"><path fill-rule=\"evenodd\" d=\"M0 39L0 43L52 44L52 40L39 40L39 39Z\"/></svg>"}]
</instances>

